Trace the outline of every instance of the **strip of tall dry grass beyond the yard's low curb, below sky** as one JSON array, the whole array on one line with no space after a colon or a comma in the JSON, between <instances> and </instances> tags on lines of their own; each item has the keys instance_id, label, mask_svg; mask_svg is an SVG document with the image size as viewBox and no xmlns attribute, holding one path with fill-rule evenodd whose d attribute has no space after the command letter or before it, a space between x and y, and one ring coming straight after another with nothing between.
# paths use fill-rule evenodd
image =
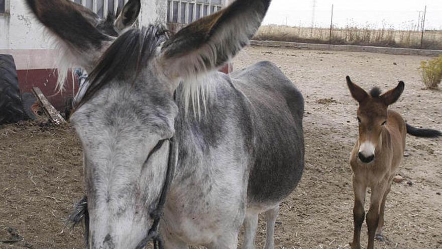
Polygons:
<instances>
[{"instance_id":1,"label":"strip of tall dry grass beyond the yard's low curb, below sky","mask_svg":"<svg viewBox=\"0 0 442 249\"><path fill-rule=\"evenodd\" d=\"M347 25L334 28L332 44L366 45L382 47L420 48L421 33L413 28L395 30L384 24L380 29L372 25L365 27ZM330 30L326 28L303 28L268 25L262 26L256 34L256 40L330 43ZM422 44L424 49L442 49L442 31L426 31Z\"/></svg>"}]
</instances>

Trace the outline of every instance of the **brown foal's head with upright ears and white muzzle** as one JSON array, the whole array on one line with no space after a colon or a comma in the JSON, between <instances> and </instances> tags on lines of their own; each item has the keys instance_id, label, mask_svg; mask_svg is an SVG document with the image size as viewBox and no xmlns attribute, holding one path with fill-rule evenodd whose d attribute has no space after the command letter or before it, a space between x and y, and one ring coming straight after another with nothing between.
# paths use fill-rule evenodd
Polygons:
<instances>
[{"instance_id":1,"label":"brown foal's head with upright ears and white muzzle","mask_svg":"<svg viewBox=\"0 0 442 249\"><path fill-rule=\"evenodd\" d=\"M380 141L382 129L387 124L387 108L396 102L404 91L404 82L400 81L396 88L381 95L379 88L370 93L354 84L347 76L347 85L352 97L359 102L359 159L369 163L375 158L375 149Z\"/></svg>"}]
</instances>

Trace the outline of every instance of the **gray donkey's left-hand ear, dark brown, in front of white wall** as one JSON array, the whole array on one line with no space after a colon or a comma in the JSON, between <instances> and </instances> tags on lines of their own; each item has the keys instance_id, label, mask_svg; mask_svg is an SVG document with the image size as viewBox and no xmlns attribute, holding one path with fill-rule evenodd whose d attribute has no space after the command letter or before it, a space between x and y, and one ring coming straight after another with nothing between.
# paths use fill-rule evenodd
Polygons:
<instances>
[{"instance_id":1,"label":"gray donkey's left-hand ear, dark brown, in front of white wall","mask_svg":"<svg viewBox=\"0 0 442 249\"><path fill-rule=\"evenodd\" d=\"M66 49L81 58L78 63L85 68L96 59L92 58L94 52L112 39L95 28L98 16L69 0L26 0L26 3Z\"/></svg>"}]
</instances>

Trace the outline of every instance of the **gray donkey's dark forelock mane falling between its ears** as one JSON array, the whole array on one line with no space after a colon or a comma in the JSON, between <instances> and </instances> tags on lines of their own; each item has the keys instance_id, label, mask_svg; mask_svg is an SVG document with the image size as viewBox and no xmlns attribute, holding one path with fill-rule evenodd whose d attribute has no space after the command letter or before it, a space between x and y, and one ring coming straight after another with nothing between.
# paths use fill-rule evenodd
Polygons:
<instances>
[{"instance_id":1,"label":"gray donkey's dark forelock mane falling between its ears","mask_svg":"<svg viewBox=\"0 0 442 249\"><path fill-rule=\"evenodd\" d=\"M97 66L89 74L89 86L80 102L77 103L77 108L116 77L126 76L128 82L136 80L141 69L147 66L156 48L167 39L167 30L161 25L134 28L119 36L104 52Z\"/></svg>"}]
</instances>

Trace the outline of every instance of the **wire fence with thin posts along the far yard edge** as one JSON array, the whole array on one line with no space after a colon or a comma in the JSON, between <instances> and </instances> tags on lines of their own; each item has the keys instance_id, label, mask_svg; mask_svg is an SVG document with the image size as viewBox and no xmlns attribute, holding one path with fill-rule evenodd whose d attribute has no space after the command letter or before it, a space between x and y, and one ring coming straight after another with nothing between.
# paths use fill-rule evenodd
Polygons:
<instances>
[{"instance_id":1,"label":"wire fence with thin posts along the far yard edge","mask_svg":"<svg viewBox=\"0 0 442 249\"><path fill-rule=\"evenodd\" d=\"M330 5L314 12L278 10L277 15L270 11L264 24L255 39L442 49L442 16L427 7L373 11Z\"/></svg>"}]
</instances>

